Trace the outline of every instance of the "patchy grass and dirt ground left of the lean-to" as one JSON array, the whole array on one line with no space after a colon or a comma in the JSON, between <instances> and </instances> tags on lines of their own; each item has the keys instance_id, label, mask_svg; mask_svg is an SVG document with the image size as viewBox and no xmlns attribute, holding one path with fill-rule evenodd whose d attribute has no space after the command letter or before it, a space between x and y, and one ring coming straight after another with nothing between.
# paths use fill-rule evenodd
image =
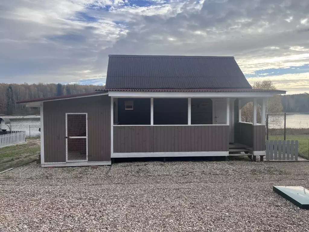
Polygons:
<instances>
[{"instance_id":1,"label":"patchy grass and dirt ground left of the lean-to","mask_svg":"<svg viewBox=\"0 0 309 232\"><path fill-rule=\"evenodd\" d=\"M0 171L14 168L39 157L40 140L28 140L27 144L0 148Z\"/></svg>"}]
</instances>

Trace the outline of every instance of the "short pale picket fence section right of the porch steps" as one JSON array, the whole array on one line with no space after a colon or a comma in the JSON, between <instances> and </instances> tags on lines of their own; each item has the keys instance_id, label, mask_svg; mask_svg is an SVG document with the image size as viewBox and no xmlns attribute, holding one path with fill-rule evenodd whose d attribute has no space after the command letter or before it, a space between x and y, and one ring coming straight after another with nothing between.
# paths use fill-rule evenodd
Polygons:
<instances>
[{"instance_id":1,"label":"short pale picket fence section right of the porch steps","mask_svg":"<svg viewBox=\"0 0 309 232\"><path fill-rule=\"evenodd\" d=\"M266 160L297 160L298 140L267 140Z\"/></svg>"}]
</instances>

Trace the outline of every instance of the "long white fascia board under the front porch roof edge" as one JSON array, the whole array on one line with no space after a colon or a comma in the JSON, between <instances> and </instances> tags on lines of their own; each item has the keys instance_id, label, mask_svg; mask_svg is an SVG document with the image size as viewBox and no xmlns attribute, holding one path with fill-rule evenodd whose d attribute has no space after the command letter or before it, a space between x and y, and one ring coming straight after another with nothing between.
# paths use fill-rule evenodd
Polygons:
<instances>
[{"instance_id":1,"label":"long white fascia board under the front porch roof edge","mask_svg":"<svg viewBox=\"0 0 309 232\"><path fill-rule=\"evenodd\" d=\"M252 98L252 97L273 97L276 93L269 92L130 92L130 91L108 91L110 97L162 97L162 98Z\"/></svg>"}]
</instances>

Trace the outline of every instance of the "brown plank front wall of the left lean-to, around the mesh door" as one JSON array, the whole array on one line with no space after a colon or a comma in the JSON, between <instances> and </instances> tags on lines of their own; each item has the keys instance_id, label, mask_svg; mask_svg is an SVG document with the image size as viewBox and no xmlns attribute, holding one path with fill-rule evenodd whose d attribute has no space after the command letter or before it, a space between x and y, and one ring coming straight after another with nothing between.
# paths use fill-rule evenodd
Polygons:
<instances>
[{"instance_id":1,"label":"brown plank front wall of the left lean-to, around the mesh door","mask_svg":"<svg viewBox=\"0 0 309 232\"><path fill-rule=\"evenodd\" d=\"M44 161L66 162L66 113L88 113L88 161L110 161L110 105L107 95L44 102Z\"/></svg>"}]
</instances>

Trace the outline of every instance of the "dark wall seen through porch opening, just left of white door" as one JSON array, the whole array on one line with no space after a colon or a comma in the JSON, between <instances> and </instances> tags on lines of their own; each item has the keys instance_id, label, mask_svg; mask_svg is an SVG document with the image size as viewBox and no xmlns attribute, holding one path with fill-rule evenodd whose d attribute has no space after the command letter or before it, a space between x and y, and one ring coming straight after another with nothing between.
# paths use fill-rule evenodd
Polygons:
<instances>
[{"instance_id":1,"label":"dark wall seen through porch opening, just left of white door","mask_svg":"<svg viewBox=\"0 0 309 232\"><path fill-rule=\"evenodd\" d=\"M212 100L191 98L191 124L213 124Z\"/></svg>"}]
</instances>

